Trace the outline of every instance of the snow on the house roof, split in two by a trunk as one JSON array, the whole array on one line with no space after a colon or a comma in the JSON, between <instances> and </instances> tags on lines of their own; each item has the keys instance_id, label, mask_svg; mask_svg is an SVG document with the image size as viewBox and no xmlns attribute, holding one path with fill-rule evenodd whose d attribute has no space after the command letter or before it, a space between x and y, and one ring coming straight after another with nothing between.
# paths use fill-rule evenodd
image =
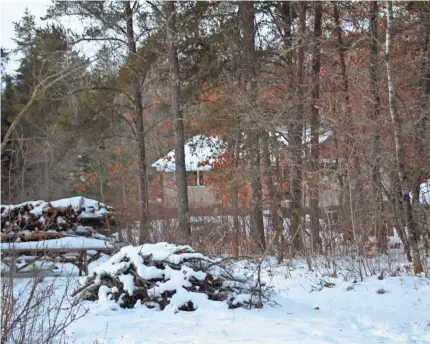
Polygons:
<instances>
[{"instance_id":1,"label":"snow on the house roof, split in two by a trunk","mask_svg":"<svg viewBox=\"0 0 430 344\"><path fill-rule=\"evenodd\" d=\"M196 135L185 143L185 168L187 171L209 171L213 163L225 152L226 144L218 136ZM158 172L175 171L175 151L152 164Z\"/></svg>"}]
</instances>

